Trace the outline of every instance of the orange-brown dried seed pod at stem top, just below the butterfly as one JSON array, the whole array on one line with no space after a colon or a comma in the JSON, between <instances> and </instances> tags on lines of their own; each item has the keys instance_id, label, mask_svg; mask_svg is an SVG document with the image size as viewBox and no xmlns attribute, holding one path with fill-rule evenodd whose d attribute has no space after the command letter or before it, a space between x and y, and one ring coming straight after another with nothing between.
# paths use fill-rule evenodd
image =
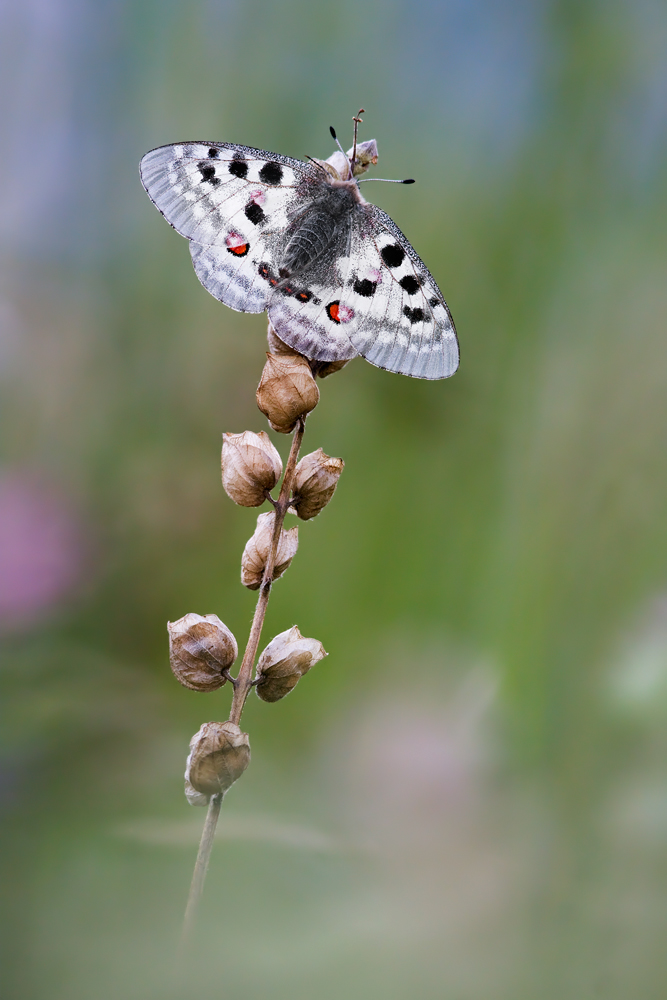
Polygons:
<instances>
[{"instance_id":1,"label":"orange-brown dried seed pod at stem top, just below the butterfly","mask_svg":"<svg viewBox=\"0 0 667 1000\"><path fill-rule=\"evenodd\" d=\"M299 417L314 410L319 399L320 390L304 357L267 354L257 387L257 405L274 431L289 434Z\"/></svg>"}]
</instances>

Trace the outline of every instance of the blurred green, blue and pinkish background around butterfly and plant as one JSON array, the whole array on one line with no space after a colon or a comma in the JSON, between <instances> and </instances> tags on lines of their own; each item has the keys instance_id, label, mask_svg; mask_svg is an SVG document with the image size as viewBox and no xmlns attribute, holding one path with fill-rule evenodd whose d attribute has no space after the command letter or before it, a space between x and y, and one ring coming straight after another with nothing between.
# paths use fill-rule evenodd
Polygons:
<instances>
[{"instance_id":1,"label":"blurred green, blue and pinkish background around butterfly and plant","mask_svg":"<svg viewBox=\"0 0 667 1000\"><path fill-rule=\"evenodd\" d=\"M660 0L0 4L7 1000L664 997L666 50ZM248 703L179 971L229 692L176 684L165 623L245 641L219 448L265 427L266 324L137 165L324 157L362 105L461 368L322 383L345 472L264 639L330 655Z\"/></svg>"}]
</instances>

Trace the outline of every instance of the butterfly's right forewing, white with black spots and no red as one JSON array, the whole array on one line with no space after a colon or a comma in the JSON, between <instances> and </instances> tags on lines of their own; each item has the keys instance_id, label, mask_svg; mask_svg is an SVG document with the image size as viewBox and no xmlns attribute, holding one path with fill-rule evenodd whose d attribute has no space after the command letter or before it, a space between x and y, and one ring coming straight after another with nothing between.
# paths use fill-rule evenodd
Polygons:
<instances>
[{"instance_id":1,"label":"butterfly's right forewing, white with black spots and no red","mask_svg":"<svg viewBox=\"0 0 667 1000\"><path fill-rule=\"evenodd\" d=\"M456 330L428 268L398 226L375 205L355 212L341 302L348 337L371 364L415 378L453 375Z\"/></svg>"}]
</instances>

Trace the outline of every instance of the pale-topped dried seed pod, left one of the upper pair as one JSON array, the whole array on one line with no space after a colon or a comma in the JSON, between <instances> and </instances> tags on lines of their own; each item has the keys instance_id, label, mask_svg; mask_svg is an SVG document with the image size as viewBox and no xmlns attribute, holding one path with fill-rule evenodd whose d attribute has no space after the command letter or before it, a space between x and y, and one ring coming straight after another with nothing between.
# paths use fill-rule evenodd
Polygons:
<instances>
[{"instance_id":1,"label":"pale-topped dried seed pod, left one of the upper pair","mask_svg":"<svg viewBox=\"0 0 667 1000\"><path fill-rule=\"evenodd\" d=\"M222 435L222 485L241 507L259 507L283 472L283 463L266 431Z\"/></svg>"}]
</instances>

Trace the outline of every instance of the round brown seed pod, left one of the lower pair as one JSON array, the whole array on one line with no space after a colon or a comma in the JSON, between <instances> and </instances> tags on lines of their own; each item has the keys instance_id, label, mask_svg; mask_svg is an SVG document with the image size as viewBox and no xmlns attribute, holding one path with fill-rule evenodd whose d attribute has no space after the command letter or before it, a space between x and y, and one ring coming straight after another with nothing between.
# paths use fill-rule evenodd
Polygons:
<instances>
[{"instance_id":1,"label":"round brown seed pod, left one of the lower pair","mask_svg":"<svg viewBox=\"0 0 667 1000\"><path fill-rule=\"evenodd\" d=\"M184 615L167 622L169 662L174 676L191 691L215 691L239 655L236 639L217 615Z\"/></svg>"}]
</instances>

